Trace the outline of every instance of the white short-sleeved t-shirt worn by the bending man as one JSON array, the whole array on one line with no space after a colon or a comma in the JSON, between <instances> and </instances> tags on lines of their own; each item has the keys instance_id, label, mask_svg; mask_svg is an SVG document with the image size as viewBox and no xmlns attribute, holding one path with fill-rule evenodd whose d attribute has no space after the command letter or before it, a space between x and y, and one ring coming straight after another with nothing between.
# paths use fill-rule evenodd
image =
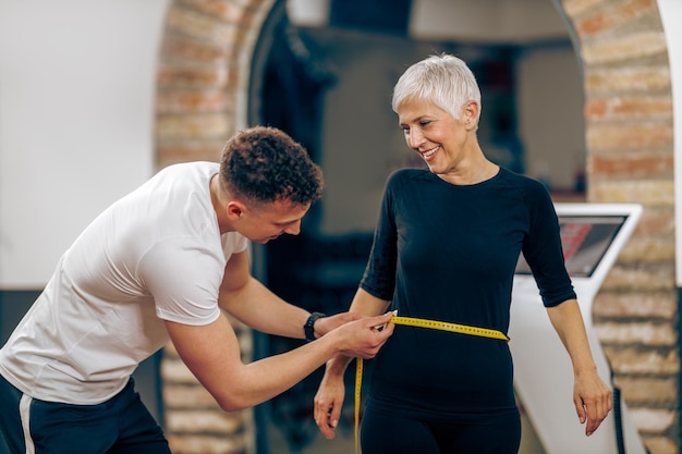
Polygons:
<instances>
[{"instance_id":1,"label":"white short-sleeved t-shirt worn by the bending man","mask_svg":"<svg viewBox=\"0 0 682 454\"><path fill-rule=\"evenodd\" d=\"M76 238L0 349L0 375L42 401L98 404L168 341L163 320L207 324L239 233L220 235L214 162L163 169Z\"/></svg>"}]
</instances>

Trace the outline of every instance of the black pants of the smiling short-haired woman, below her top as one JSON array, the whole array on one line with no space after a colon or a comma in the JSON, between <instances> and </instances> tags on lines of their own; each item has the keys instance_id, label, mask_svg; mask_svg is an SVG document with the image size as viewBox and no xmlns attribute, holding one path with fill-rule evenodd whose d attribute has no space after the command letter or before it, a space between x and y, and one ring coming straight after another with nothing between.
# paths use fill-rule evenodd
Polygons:
<instances>
[{"instance_id":1,"label":"black pants of the smiling short-haired woman, below her top","mask_svg":"<svg viewBox=\"0 0 682 454\"><path fill-rule=\"evenodd\" d=\"M363 454L517 454L521 417L506 421L426 421L378 412L367 404L361 426Z\"/></svg>"}]
</instances>

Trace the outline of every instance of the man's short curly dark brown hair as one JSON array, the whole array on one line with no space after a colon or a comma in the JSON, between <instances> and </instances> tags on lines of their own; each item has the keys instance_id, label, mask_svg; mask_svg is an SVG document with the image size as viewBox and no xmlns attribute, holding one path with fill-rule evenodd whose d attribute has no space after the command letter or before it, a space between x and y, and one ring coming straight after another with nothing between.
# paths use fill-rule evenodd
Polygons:
<instances>
[{"instance_id":1,"label":"man's short curly dark brown hair","mask_svg":"<svg viewBox=\"0 0 682 454\"><path fill-rule=\"evenodd\" d=\"M226 144L220 161L224 187L255 203L290 200L305 205L321 198L321 169L305 148L270 126L238 132Z\"/></svg>"}]
</instances>

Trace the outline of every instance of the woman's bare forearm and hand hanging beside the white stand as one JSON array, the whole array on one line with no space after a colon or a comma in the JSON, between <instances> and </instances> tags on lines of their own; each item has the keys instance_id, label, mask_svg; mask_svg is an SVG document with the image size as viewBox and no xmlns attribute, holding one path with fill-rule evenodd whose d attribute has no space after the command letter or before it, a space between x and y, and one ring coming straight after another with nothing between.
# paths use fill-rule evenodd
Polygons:
<instances>
[{"instance_id":1,"label":"woman's bare forearm and hand hanging beside the white stand","mask_svg":"<svg viewBox=\"0 0 682 454\"><path fill-rule=\"evenodd\" d=\"M548 308L547 314L571 357L573 403L581 424L587 421L585 434L590 435L613 406L611 390L597 373L577 300L565 300Z\"/></svg>"}]
</instances>

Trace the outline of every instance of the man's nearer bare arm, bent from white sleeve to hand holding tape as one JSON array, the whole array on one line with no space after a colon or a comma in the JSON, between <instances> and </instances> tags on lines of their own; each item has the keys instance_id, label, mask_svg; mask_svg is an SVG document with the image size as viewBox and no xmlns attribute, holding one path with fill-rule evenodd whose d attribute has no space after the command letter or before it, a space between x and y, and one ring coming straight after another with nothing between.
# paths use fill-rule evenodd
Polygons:
<instances>
[{"instance_id":1,"label":"man's nearer bare arm, bent from white sleeve to hand holding tape","mask_svg":"<svg viewBox=\"0 0 682 454\"><path fill-rule=\"evenodd\" d=\"M257 304L257 303L254 303ZM334 355L370 358L393 332L391 314L346 323L293 351L243 364L226 317L207 326L166 321L178 354L226 412L263 403L293 386ZM379 331L374 327L388 323Z\"/></svg>"}]
</instances>

